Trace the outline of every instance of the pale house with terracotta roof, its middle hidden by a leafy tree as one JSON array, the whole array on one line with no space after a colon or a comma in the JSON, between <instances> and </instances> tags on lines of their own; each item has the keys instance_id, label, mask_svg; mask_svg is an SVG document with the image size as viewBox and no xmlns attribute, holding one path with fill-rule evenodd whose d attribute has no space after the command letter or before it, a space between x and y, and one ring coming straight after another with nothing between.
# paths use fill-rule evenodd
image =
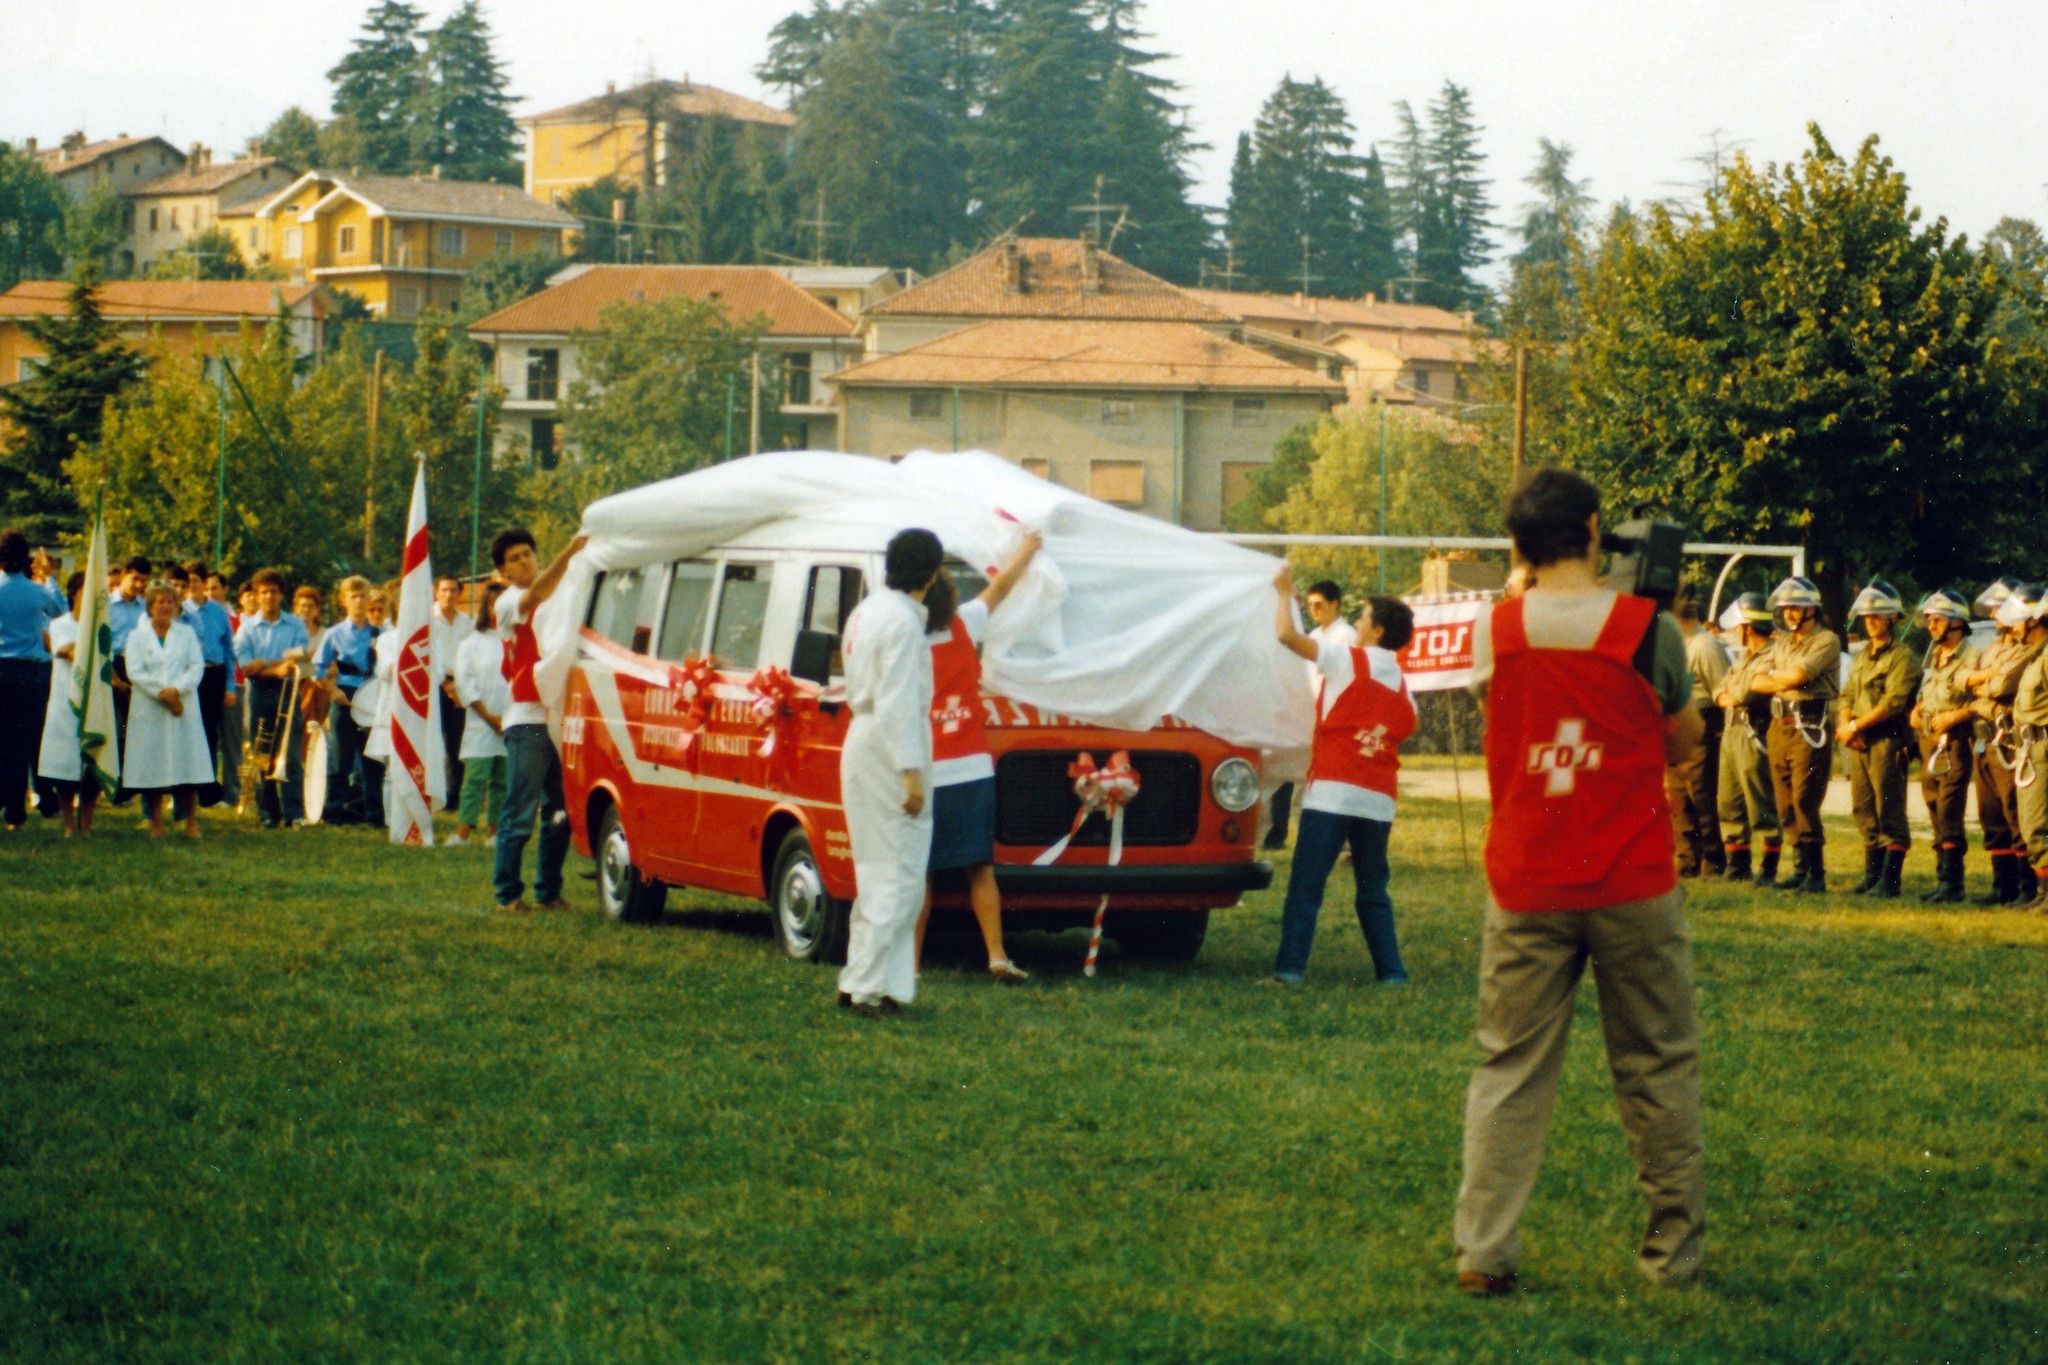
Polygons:
<instances>
[{"instance_id":1,"label":"pale house with terracotta roof, its middle hidden by a leafy tree","mask_svg":"<svg viewBox=\"0 0 2048 1365\"><path fill-rule=\"evenodd\" d=\"M717 303L733 321L758 319L762 364L741 395L741 422L758 448L760 417L776 411L799 446L831 448L838 415L819 385L860 356L854 321L770 266L569 266L537 295L477 319L469 336L487 346L506 389L502 450L520 440L547 467L559 450L559 405L582 372L582 340L604 329L604 311L662 299Z\"/></svg>"}]
</instances>

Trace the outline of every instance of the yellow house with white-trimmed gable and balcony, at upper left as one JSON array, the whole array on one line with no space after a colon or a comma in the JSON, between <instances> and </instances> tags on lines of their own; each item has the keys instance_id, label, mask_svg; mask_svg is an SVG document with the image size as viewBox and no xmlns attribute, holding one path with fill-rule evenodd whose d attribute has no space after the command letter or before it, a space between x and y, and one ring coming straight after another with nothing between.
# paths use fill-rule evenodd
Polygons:
<instances>
[{"instance_id":1,"label":"yellow house with white-trimmed gable and balcony, at upper left","mask_svg":"<svg viewBox=\"0 0 2048 1365\"><path fill-rule=\"evenodd\" d=\"M377 317L451 307L498 252L561 254L575 219L508 184L309 170L254 215L270 262L346 289Z\"/></svg>"}]
</instances>

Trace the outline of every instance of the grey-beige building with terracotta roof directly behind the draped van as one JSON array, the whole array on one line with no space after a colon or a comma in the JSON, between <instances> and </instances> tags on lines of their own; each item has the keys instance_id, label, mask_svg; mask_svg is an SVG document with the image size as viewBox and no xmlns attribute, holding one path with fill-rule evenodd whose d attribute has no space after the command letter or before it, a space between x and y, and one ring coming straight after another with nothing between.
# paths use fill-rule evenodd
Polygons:
<instances>
[{"instance_id":1,"label":"grey-beige building with terracotta roof directly behind the draped van","mask_svg":"<svg viewBox=\"0 0 2048 1365\"><path fill-rule=\"evenodd\" d=\"M874 354L831 377L840 446L993 450L1063 487L1219 530L1274 442L1341 403L1343 383L1233 340L1198 301L1188 313L1200 321L991 317Z\"/></svg>"}]
</instances>

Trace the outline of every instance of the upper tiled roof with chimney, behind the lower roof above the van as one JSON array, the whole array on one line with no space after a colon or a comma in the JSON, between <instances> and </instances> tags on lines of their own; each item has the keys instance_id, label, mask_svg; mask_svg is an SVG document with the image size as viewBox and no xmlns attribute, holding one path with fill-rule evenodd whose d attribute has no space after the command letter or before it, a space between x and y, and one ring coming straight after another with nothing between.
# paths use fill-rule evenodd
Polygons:
<instances>
[{"instance_id":1,"label":"upper tiled roof with chimney, behind the lower roof above the van","mask_svg":"<svg viewBox=\"0 0 2048 1365\"><path fill-rule=\"evenodd\" d=\"M1094 252L1100 287L1083 270ZM1014 270L1022 270L1016 289ZM1075 237L1010 237L868 309L881 317L1069 317L1227 323L1190 291Z\"/></svg>"}]
</instances>

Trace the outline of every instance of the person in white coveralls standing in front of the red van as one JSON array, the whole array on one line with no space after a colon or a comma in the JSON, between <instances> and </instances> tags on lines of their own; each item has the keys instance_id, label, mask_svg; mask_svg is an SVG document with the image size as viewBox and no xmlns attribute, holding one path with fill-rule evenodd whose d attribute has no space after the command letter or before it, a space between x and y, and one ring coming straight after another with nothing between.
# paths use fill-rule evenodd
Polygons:
<instances>
[{"instance_id":1,"label":"person in white coveralls standing in front of the red van","mask_svg":"<svg viewBox=\"0 0 2048 1365\"><path fill-rule=\"evenodd\" d=\"M889 540L883 589L846 622L846 704L840 800L854 845L854 911L840 1005L893 1015L918 995L918 911L932 849L932 647L924 593L944 548L928 530Z\"/></svg>"}]
</instances>

